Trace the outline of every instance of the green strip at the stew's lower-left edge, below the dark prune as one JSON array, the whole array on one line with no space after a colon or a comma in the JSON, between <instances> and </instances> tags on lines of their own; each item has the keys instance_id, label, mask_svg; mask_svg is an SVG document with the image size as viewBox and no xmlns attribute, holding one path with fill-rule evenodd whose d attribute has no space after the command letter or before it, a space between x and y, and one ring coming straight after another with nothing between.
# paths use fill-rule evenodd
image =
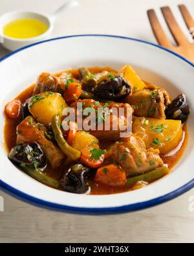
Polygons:
<instances>
[{"instance_id":1,"label":"green strip at the stew's lower-left edge, below the dark prune","mask_svg":"<svg viewBox=\"0 0 194 256\"><path fill-rule=\"evenodd\" d=\"M48 185L50 187L58 188L59 187L59 181L55 180L53 178L50 178L45 174L42 170L39 169L32 169L30 167L24 167L23 171L26 172L30 177L34 178L35 180L38 180L39 182Z\"/></svg>"}]
</instances>

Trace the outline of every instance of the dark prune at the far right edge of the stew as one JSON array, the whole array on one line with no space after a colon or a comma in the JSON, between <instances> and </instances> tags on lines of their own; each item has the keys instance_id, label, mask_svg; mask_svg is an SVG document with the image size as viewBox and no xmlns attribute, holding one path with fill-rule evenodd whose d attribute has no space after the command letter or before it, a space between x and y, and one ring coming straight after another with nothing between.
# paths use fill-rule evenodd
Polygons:
<instances>
[{"instance_id":1,"label":"dark prune at the far right edge of the stew","mask_svg":"<svg viewBox=\"0 0 194 256\"><path fill-rule=\"evenodd\" d=\"M180 94L169 104L165 110L166 118L185 122L190 113L186 95Z\"/></svg>"}]
</instances>

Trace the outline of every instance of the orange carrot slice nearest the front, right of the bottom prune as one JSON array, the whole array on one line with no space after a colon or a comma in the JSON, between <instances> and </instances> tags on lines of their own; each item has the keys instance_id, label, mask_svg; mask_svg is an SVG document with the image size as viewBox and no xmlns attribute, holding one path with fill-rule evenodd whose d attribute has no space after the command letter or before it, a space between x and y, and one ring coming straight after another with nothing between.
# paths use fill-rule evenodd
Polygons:
<instances>
[{"instance_id":1,"label":"orange carrot slice nearest the front, right of the bottom prune","mask_svg":"<svg viewBox=\"0 0 194 256\"><path fill-rule=\"evenodd\" d=\"M124 187L127 176L118 165L111 164L100 167L96 172L94 180L112 187Z\"/></svg>"}]
</instances>

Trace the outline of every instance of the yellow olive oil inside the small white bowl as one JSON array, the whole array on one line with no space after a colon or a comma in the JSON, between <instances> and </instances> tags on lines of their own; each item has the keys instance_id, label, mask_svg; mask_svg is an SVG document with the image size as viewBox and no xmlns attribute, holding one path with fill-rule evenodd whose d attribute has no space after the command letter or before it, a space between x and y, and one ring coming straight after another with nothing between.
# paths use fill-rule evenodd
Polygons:
<instances>
[{"instance_id":1,"label":"yellow olive oil inside the small white bowl","mask_svg":"<svg viewBox=\"0 0 194 256\"><path fill-rule=\"evenodd\" d=\"M3 28L3 34L15 39L34 38L44 34L48 26L38 19L16 19Z\"/></svg>"}]
</instances>

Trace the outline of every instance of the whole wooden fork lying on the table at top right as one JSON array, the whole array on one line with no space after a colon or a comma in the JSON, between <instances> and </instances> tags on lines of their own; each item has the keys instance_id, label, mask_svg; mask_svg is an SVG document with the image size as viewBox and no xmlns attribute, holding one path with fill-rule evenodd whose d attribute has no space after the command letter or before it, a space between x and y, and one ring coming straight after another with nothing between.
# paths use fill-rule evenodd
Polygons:
<instances>
[{"instance_id":1,"label":"whole wooden fork lying on the table at top right","mask_svg":"<svg viewBox=\"0 0 194 256\"><path fill-rule=\"evenodd\" d=\"M184 21L189 29L189 31L194 32L194 20L189 14L188 9L185 5L178 5L178 8L184 18ZM173 38L175 39L177 45L173 45L169 39L167 38L160 22L158 21L158 17L156 16L155 10L148 10L147 14L149 17L149 21L151 23L151 27L155 34L156 40L158 43L164 47L171 49L172 51L178 52L178 54L188 58L192 62L194 62L194 43L191 43L189 39L186 37L182 29L180 29L175 16L171 12L171 9L168 6L162 7L162 14L164 19L166 20L167 26ZM194 34L194 33L193 33Z\"/></svg>"}]
</instances>

